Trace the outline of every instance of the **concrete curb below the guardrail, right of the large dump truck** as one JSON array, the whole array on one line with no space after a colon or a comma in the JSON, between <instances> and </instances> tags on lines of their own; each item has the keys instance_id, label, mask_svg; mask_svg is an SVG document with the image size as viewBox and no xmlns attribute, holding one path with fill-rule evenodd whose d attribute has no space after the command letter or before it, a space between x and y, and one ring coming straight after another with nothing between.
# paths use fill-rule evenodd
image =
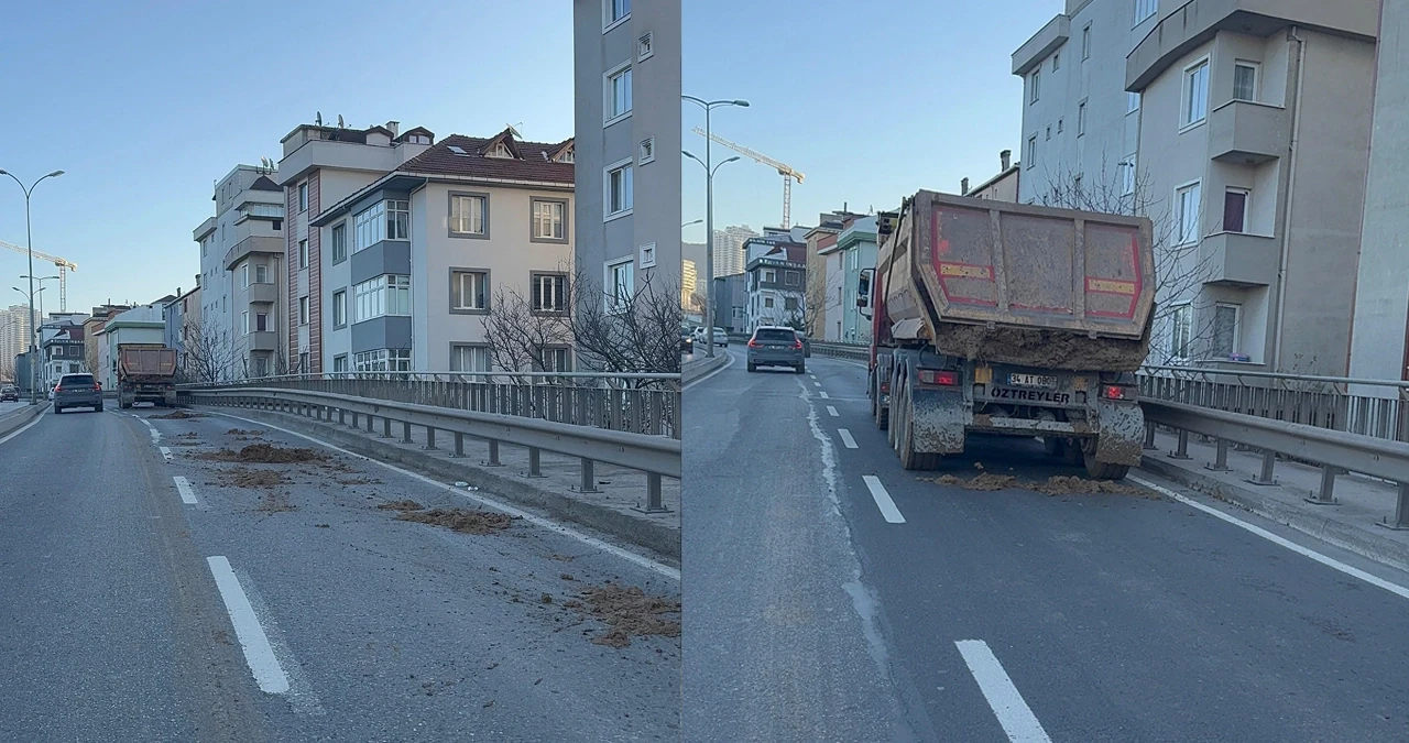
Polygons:
<instances>
[{"instance_id":1,"label":"concrete curb below the guardrail, right of the large dump truck","mask_svg":"<svg viewBox=\"0 0 1409 743\"><path fill-rule=\"evenodd\" d=\"M1267 498L1257 491L1231 485L1199 472L1191 472L1182 467L1160 461L1158 457L1144 455L1140 458L1140 468L1169 478L1181 485L1193 488L1219 501L1243 508L1258 516L1271 519L1279 524L1295 529L1303 534L1316 537L1327 544L1334 544L1343 550L1353 551L1361 557L1368 557L1377 563L1409 570L1409 546L1392 539L1375 536L1336 519L1327 519L1315 513L1308 513L1295 506L1288 506L1277 499ZM1317 506L1334 508L1334 506Z\"/></svg>"}]
</instances>

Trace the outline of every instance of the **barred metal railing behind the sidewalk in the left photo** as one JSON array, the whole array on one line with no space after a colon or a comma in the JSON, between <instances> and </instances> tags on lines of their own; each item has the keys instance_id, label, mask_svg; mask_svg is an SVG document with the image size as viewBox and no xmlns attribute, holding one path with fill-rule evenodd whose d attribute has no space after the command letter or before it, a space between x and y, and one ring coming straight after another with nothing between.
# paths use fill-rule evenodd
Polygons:
<instances>
[{"instance_id":1,"label":"barred metal railing behind the sidewalk in the left photo","mask_svg":"<svg viewBox=\"0 0 1409 743\"><path fill-rule=\"evenodd\" d=\"M328 372L261 376L206 389L290 389L534 417L647 436L681 437L681 375L592 372Z\"/></svg>"}]
</instances>

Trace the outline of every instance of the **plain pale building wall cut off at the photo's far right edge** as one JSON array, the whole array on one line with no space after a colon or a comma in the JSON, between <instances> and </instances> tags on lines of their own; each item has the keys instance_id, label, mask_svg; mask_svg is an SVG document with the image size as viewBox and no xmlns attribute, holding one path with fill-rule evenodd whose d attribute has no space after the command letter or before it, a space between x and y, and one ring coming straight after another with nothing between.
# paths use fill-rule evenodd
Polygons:
<instances>
[{"instance_id":1,"label":"plain pale building wall cut off at the photo's far right edge","mask_svg":"<svg viewBox=\"0 0 1409 743\"><path fill-rule=\"evenodd\" d=\"M1360 233L1360 276L1350 336L1350 375L1409 379L1409 1L1385 0L1379 24ZM1355 395L1394 396L1389 388L1358 386Z\"/></svg>"}]
</instances>

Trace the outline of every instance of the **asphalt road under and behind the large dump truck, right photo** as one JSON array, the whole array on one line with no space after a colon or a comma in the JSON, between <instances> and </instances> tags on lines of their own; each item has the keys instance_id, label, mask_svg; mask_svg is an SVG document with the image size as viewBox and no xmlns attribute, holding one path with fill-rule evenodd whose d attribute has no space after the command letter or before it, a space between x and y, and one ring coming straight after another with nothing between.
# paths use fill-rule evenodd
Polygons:
<instances>
[{"instance_id":1,"label":"asphalt road under and behind the large dump truck, right photo","mask_svg":"<svg viewBox=\"0 0 1409 743\"><path fill-rule=\"evenodd\" d=\"M920 479L864 367L809 372L685 395L686 742L1409 740L1406 598L1168 496ZM975 462L1079 474L996 438L933 475Z\"/></svg>"}]
</instances>

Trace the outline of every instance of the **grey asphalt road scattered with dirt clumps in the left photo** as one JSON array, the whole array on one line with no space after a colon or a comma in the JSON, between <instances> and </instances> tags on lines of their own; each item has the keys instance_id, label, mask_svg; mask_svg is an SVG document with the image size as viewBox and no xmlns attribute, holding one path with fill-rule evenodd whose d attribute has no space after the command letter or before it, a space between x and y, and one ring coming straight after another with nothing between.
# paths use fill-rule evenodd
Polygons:
<instances>
[{"instance_id":1,"label":"grey asphalt road scattered with dirt clumps in the left photo","mask_svg":"<svg viewBox=\"0 0 1409 743\"><path fill-rule=\"evenodd\" d=\"M565 606L609 581L678 599L668 568L528 520L396 520L376 506L475 503L337 453L206 461L313 444L132 413L0 444L0 740L679 739L681 640L596 644ZM256 472L280 482L237 484Z\"/></svg>"}]
</instances>

